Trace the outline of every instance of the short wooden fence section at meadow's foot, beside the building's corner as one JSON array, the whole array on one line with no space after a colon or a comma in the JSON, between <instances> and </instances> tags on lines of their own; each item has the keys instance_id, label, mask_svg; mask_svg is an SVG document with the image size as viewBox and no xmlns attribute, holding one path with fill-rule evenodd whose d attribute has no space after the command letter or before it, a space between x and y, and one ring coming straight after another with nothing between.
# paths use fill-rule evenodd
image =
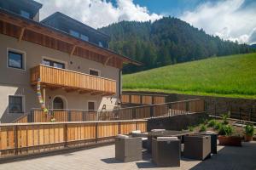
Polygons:
<instances>
[{"instance_id":1,"label":"short wooden fence section at meadow's foot, beside the building's corner","mask_svg":"<svg viewBox=\"0 0 256 170\"><path fill-rule=\"evenodd\" d=\"M166 95L122 94L123 104L154 105L166 103Z\"/></svg>"}]
</instances>

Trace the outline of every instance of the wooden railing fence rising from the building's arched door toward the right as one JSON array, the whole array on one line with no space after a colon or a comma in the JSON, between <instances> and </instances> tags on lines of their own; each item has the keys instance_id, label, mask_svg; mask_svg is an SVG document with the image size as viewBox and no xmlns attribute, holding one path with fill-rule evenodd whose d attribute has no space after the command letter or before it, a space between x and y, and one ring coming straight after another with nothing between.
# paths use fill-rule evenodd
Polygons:
<instances>
[{"instance_id":1,"label":"wooden railing fence rising from the building's arched door toward the right","mask_svg":"<svg viewBox=\"0 0 256 170\"><path fill-rule=\"evenodd\" d=\"M165 104L126 107L112 111L49 110L50 114L48 114L42 110L33 110L26 116L15 120L15 122L50 122L51 118L55 118L55 122L133 120L202 111L205 111L204 100L190 99Z\"/></svg>"}]
</instances>

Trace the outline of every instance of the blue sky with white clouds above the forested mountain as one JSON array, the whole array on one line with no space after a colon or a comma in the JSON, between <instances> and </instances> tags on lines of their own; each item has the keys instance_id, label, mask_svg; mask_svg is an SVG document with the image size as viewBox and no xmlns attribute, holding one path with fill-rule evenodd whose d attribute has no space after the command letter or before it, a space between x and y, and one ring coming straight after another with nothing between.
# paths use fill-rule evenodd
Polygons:
<instances>
[{"instance_id":1,"label":"blue sky with white clouds above the forested mountain","mask_svg":"<svg viewBox=\"0 0 256 170\"><path fill-rule=\"evenodd\" d=\"M256 0L36 0L40 17L59 11L99 28L120 20L160 20L173 16L208 34L256 43Z\"/></svg>"}]
</instances>

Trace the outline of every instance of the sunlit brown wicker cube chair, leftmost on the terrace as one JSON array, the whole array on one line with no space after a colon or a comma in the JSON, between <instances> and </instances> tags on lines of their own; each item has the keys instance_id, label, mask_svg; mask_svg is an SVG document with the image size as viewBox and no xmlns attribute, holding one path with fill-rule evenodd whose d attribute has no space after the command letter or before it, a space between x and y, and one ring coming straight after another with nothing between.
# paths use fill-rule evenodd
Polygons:
<instances>
[{"instance_id":1,"label":"sunlit brown wicker cube chair, leftmost on the terrace","mask_svg":"<svg viewBox=\"0 0 256 170\"><path fill-rule=\"evenodd\" d=\"M119 161L139 161L143 159L142 138L118 135L115 138L115 159Z\"/></svg>"}]
</instances>

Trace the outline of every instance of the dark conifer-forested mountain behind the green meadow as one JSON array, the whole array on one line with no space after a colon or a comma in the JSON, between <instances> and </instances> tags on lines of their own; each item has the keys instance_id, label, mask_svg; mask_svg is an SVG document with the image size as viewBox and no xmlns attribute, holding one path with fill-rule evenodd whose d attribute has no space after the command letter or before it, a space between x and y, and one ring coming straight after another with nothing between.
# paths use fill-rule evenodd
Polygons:
<instances>
[{"instance_id":1,"label":"dark conifer-forested mountain behind the green meadow","mask_svg":"<svg viewBox=\"0 0 256 170\"><path fill-rule=\"evenodd\" d=\"M126 65L124 73L177 64L211 56L243 54L245 44L212 37L183 20L166 17L155 22L122 21L99 29L111 37L110 48L144 63Z\"/></svg>"}]
</instances>

